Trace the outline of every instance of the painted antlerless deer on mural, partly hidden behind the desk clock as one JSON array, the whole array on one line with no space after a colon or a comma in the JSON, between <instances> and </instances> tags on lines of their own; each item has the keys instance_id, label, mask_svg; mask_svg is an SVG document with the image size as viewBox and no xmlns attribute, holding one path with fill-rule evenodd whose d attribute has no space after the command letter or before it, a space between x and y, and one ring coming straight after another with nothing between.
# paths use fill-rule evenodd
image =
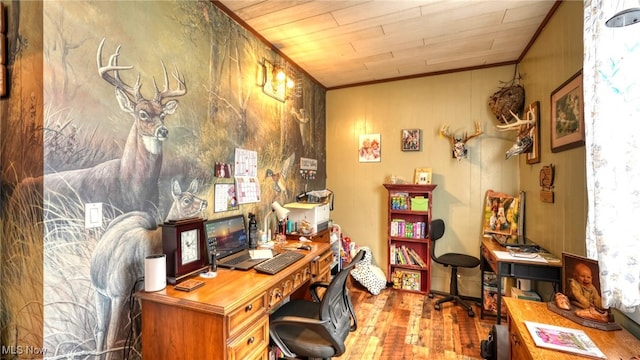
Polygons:
<instances>
[{"instance_id":1,"label":"painted antlerless deer on mural, partly hidden behind the desk clock","mask_svg":"<svg viewBox=\"0 0 640 360\"><path fill-rule=\"evenodd\" d=\"M193 180L182 191L177 180L171 182L173 205L166 219L196 216L207 207L207 201L197 197L198 181ZM96 289L96 317L98 329L96 353L109 349L132 321L128 298L137 279L144 277L144 259L162 253L162 229L147 212L132 211L115 218L102 235L91 256L91 283ZM132 326L130 324L129 326Z\"/></svg>"}]
</instances>

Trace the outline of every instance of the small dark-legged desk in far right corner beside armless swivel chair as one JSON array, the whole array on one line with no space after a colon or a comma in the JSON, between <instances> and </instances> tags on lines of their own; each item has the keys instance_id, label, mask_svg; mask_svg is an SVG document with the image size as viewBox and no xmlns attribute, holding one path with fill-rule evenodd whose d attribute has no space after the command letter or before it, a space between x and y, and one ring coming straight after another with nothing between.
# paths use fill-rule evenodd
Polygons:
<instances>
[{"instance_id":1,"label":"small dark-legged desk in far right corner beside armless swivel chair","mask_svg":"<svg viewBox=\"0 0 640 360\"><path fill-rule=\"evenodd\" d=\"M497 307L496 321L500 324L502 311L502 278L519 278L535 281L548 281L554 284L554 288L560 288L562 282L562 262L541 263L527 260L526 258L503 260L499 259L495 251L506 249L491 238L483 237L480 246L480 281L484 280L485 271L493 271L497 277ZM482 282L481 282L482 284ZM481 307L480 318L484 318L484 289L480 292Z\"/></svg>"}]
</instances>

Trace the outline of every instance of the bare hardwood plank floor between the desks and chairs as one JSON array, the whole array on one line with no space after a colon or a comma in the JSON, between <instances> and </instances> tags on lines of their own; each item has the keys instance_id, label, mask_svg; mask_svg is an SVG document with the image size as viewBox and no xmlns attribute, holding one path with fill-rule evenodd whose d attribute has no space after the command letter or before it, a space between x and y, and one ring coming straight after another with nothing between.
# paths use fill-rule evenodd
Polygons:
<instances>
[{"instance_id":1,"label":"bare hardwood plank floor between the desks and chairs","mask_svg":"<svg viewBox=\"0 0 640 360\"><path fill-rule=\"evenodd\" d=\"M349 281L349 291L358 329L349 334L347 351L335 359L482 359L480 341L495 324L492 317L480 320L475 304L476 316L470 318L453 303L435 310L438 296L393 289L372 295L354 281Z\"/></svg>"}]
</instances>

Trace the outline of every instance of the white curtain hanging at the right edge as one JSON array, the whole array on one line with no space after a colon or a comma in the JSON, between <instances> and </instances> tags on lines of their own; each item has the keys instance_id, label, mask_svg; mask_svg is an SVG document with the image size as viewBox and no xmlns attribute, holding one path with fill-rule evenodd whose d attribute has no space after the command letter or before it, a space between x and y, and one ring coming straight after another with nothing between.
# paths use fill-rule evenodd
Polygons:
<instances>
[{"instance_id":1,"label":"white curtain hanging at the right edge","mask_svg":"<svg viewBox=\"0 0 640 360\"><path fill-rule=\"evenodd\" d=\"M587 257L605 307L640 314L640 24L609 28L638 0L586 0L584 118Z\"/></svg>"}]
</instances>

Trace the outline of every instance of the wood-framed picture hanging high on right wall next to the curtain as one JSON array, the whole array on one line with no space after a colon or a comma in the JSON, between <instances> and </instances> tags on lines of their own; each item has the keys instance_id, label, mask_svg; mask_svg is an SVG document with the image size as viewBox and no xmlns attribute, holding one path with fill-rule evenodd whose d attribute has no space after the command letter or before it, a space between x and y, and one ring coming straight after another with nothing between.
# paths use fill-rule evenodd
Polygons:
<instances>
[{"instance_id":1,"label":"wood-framed picture hanging high on right wall next to the curtain","mask_svg":"<svg viewBox=\"0 0 640 360\"><path fill-rule=\"evenodd\" d=\"M584 145L582 70L551 93L551 152Z\"/></svg>"}]
</instances>

